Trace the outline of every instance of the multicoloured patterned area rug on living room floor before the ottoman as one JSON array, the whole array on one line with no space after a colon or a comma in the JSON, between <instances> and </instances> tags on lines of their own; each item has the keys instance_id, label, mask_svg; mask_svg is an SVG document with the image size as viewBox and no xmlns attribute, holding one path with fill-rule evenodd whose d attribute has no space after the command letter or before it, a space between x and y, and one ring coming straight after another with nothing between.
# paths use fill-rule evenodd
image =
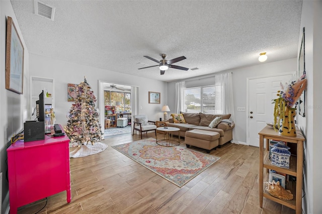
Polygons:
<instances>
[{"instance_id":1,"label":"multicoloured patterned area rug on living room floor before the ottoman","mask_svg":"<svg viewBox=\"0 0 322 214\"><path fill-rule=\"evenodd\" d=\"M153 138L112 148L179 187L220 159L181 146L159 146Z\"/></svg>"}]
</instances>

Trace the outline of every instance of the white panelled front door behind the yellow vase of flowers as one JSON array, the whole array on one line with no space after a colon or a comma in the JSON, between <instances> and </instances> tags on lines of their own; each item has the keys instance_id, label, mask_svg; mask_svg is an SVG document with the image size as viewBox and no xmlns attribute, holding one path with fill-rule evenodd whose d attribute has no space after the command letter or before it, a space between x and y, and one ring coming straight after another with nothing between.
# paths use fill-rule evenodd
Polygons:
<instances>
[{"instance_id":1,"label":"white panelled front door behind the yellow vase of flowers","mask_svg":"<svg viewBox=\"0 0 322 214\"><path fill-rule=\"evenodd\" d=\"M292 73L257 77L248 79L248 112L247 112L247 140L250 146L259 147L258 133L273 122L274 104L272 99L277 98L278 90L281 90L281 82L289 82Z\"/></svg>"}]
</instances>

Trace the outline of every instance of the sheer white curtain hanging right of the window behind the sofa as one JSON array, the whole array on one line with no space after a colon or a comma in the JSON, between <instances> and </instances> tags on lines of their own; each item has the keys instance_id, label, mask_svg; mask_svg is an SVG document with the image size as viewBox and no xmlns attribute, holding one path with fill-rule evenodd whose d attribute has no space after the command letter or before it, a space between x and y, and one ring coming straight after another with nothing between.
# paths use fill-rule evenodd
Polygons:
<instances>
[{"instance_id":1,"label":"sheer white curtain hanging right of the window behind the sofa","mask_svg":"<svg viewBox=\"0 0 322 214\"><path fill-rule=\"evenodd\" d=\"M223 103L224 103L224 114L231 114L230 120L235 123L234 119L234 106L233 106L233 94L232 94L232 77L231 73L218 74L215 76L215 85L223 86ZM236 124L232 129L232 143L239 144L236 139Z\"/></svg>"}]
</instances>

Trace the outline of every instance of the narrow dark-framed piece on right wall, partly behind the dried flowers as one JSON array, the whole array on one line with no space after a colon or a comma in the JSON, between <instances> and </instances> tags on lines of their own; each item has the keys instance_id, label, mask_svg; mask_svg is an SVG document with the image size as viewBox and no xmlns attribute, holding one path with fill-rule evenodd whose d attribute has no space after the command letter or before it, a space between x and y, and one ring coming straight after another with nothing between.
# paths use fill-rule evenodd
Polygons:
<instances>
[{"instance_id":1,"label":"narrow dark-framed piece on right wall, partly behind the dried flowers","mask_svg":"<svg viewBox=\"0 0 322 214\"><path fill-rule=\"evenodd\" d=\"M301 47L300 52L298 56L298 79L302 80L306 78L306 70L305 70L305 28L303 28L302 33L302 40L301 40ZM298 99L298 114L302 117L305 117L305 90L303 90L302 94L300 95Z\"/></svg>"}]
</instances>

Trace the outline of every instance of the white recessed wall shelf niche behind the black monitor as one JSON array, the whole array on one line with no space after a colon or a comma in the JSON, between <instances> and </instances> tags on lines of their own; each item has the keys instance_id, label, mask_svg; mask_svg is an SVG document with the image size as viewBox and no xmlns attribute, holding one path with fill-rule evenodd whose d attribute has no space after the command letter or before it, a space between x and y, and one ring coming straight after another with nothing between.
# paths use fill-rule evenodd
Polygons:
<instances>
[{"instance_id":1,"label":"white recessed wall shelf niche behind the black monitor","mask_svg":"<svg viewBox=\"0 0 322 214\"><path fill-rule=\"evenodd\" d=\"M51 78L44 78L38 76L31 76L30 77L30 91L31 91L31 98L30 98L30 110L31 113L34 112L36 108L36 101L39 99L39 94L44 91L45 99L44 104L46 108L54 108L55 104L55 87L54 87L54 79ZM46 92L51 93L51 97L46 96ZM36 119L36 113L31 116L30 120Z\"/></svg>"}]
</instances>

